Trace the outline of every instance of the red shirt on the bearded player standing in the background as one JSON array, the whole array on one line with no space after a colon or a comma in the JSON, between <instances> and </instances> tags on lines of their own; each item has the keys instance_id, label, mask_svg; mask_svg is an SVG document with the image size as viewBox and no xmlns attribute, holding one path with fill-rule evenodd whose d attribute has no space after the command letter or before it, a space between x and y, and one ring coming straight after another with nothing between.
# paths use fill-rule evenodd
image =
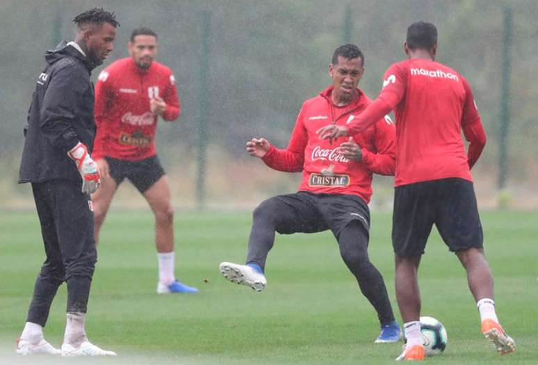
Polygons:
<instances>
[{"instance_id":1,"label":"red shirt on the bearded player standing in the background","mask_svg":"<svg viewBox=\"0 0 538 365\"><path fill-rule=\"evenodd\" d=\"M129 57L106 67L95 85L92 158L139 161L154 156L157 116L149 110L149 100L156 97L166 103L163 120L176 120L181 109L174 76L165 65L154 61L144 70Z\"/></svg>"}]
</instances>

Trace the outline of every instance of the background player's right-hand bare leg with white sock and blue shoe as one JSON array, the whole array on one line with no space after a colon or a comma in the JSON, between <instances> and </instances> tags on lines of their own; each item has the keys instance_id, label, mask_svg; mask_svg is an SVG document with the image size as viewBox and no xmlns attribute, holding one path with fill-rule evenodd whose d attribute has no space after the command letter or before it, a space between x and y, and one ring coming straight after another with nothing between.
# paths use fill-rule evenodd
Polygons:
<instances>
[{"instance_id":1,"label":"background player's right-hand bare leg with white sock and blue shoe","mask_svg":"<svg viewBox=\"0 0 538 365\"><path fill-rule=\"evenodd\" d=\"M158 257L157 293L196 293L196 288L178 282L174 275L174 207L168 177L163 175L144 192L155 216L155 245Z\"/></svg>"}]
</instances>

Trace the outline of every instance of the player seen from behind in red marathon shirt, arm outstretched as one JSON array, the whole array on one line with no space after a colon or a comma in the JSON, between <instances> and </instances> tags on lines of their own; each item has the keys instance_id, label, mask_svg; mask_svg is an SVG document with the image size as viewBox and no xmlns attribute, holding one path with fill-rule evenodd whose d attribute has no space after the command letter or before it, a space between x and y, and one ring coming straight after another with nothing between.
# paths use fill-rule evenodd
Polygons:
<instances>
[{"instance_id":1,"label":"player seen from behind in red marathon shirt, arm outstretched","mask_svg":"<svg viewBox=\"0 0 538 365\"><path fill-rule=\"evenodd\" d=\"M407 338L398 359L424 359L417 270L434 224L466 269L480 311L482 333L498 352L513 352L514 340L505 334L495 313L493 277L484 257L470 173L486 143L484 127L466 79L435 62L436 53L435 26L411 24L405 42L409 59L391 65L385 72L379 97L350 124L324 127L318 133L329 140L353 136L381 115L391 110L396 113L392 238L396 297ZM467 155L462 129L469 141Z\"/></svg>"}]
</instances>

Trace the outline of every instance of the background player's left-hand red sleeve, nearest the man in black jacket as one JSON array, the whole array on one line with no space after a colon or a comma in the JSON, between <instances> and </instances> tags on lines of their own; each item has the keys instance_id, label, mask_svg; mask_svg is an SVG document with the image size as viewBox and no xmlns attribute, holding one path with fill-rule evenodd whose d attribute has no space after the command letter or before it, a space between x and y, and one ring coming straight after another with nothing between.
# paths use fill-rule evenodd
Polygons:
<instances>
[{"instance_id":1,"label":"background player's left-hand red sleeve, nearest the man in black jacket","mask_svg":"<svg viewBox=\"0 0 538 365\"><path fill-rule=\"evenodd\" d=\"M102 159L106 155L106 147L109 143L107 124L110 122L106 116L113 104L114 92L111 86L112 80L107 70L101 71L95 84L95 124L97 132L93 141L92 159Z\"/></svg>"}]
</instances>

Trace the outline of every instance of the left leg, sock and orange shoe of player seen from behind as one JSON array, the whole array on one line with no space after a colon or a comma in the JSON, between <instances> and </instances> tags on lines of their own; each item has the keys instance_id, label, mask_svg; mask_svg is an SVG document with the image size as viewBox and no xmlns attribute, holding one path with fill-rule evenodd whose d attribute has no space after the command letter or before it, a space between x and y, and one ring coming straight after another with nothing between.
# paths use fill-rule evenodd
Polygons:
<instances>
[{"instance_id":1,"label":"left leg, sock and orange shoe of player seen from behind","mask_svg":"<svg viewBox=\"0 0 538 365\"><path fill-rule=\"evenodd\" d=\"M423 360L425 357L421 334L421 293L418 289L418 265L421 257L395 256L396 299L404 322L407 343L397 360Z\"/></svg>"}]
</instances>

